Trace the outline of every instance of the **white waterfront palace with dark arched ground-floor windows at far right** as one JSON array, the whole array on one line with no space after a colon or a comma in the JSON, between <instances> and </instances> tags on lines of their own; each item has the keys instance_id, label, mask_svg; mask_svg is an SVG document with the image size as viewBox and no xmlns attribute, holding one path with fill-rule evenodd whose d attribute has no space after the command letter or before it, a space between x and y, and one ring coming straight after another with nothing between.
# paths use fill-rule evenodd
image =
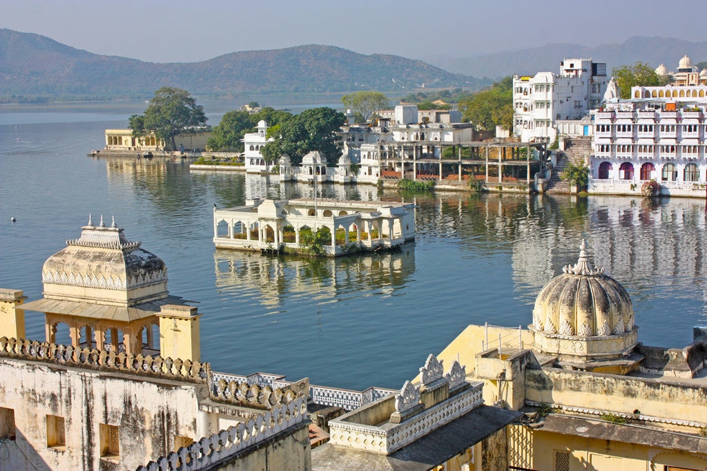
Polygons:
<instances>
[{"instance_id":1,"label":"white waterfront palace with dark arched ground-floor windows at far right","mask_svg":"<svg viewBox=\"0 0 707 471\"><path fill-rule=\"evenodd\" d=\"M660 194L705 197L707 71L684 57L675 75L681 80L633 87L630 100L597 110L590 193L640 194L644 182L655 180Z\"/></svg>"}]
</instances>

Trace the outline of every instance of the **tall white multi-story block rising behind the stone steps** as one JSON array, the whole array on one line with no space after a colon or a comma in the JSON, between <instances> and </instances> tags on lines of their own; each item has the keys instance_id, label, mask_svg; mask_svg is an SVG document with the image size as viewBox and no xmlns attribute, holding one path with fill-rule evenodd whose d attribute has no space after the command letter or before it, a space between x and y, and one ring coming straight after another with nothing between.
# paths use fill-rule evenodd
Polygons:
<instances>
[{"instance_id":1,"label":"tall white multi-story block rising behind the stone steps","mask_svg":"<svg viewBox=\"0 0 707 471\"><path fill-rule=\"evenodd\" d=\"M602 103L607 64L592 59L564 59L560 73L513 76L513 132L521 141L552 141L556 123L577 121ZM582 127L590 135L590 125Z\"/></svg>"}]
</instances>

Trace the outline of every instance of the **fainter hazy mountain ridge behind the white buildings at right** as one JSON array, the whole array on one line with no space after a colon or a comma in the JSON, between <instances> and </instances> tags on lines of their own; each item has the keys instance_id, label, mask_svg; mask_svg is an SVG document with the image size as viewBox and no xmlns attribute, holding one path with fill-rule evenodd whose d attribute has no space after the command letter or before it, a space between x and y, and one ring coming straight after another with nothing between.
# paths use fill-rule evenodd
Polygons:
<instances>
[{"instance_id":1,"label":"fainter hazy mountain ridge behind the white buildings at right","mask_svg":"<svg viewBox=\"0 0 707 471\"><path fill-rule=\"evenodd\" d=\"M557 72L562 59L591 58L606 62L607 73L614 67L634 62L645 62L658 67L665 64L674 71L687 54L694 64L707 61L707 42L689 42L672 37L634 36L621 44L602 44L597 47L576 44L549 44L532 49L495 52L473 57L453 59L428 57L427 62L442 69L475 77L500 79L513 74L536 74L539 71Z\"/></svg>"}]
</instances>

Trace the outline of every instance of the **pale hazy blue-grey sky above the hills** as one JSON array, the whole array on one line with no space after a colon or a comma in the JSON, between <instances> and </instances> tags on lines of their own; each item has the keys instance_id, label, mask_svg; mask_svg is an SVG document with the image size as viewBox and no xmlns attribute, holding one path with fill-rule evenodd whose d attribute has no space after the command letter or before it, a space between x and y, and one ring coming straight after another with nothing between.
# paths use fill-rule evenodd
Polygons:
<instances>
[{"instance_id":1,"label":"pale hazy blue-grey sky above the hills","mask_svg":"<svg viewBox=\"0 0 707 471\"><path fill-rule=\"evenodd\" d=\"M0 28L150 62L305 44L428 59L634 35L698 42L706 13L705 0L2 0Z\"/></svg>"}]
</instances>

